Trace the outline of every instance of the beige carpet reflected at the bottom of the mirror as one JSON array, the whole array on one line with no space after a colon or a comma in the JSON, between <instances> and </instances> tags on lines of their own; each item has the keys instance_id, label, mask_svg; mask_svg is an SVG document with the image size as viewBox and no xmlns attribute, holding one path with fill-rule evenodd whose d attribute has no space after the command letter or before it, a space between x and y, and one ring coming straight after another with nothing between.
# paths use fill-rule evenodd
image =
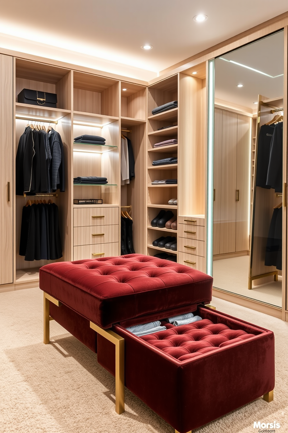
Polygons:
<instances>
[{"instance_id":1,"label":"beige carpet reflected at the bottom of the mirror","mask_svg":"<svg viewBox=\"0 0 288 433\"><path fill-rule=\"evenodd\" d=\"M248 289L249 255L214 260L213 286L242 296L282 306L282 281L272 281ZM280 278L279 278L280 280ZM259 280L258 280L259 281Z\"/></svg>"}]
</instances>

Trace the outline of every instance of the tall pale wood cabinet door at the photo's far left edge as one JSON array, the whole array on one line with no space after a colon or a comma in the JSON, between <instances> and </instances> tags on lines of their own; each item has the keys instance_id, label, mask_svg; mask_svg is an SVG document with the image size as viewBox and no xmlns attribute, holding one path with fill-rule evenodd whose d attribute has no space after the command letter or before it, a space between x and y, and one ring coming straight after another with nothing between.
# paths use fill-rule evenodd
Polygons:
<instances>
[{"instance_id":1,"label":"tall pale wood cabinet door at the photo's far left edge","mask_svg":"<svg viewBox=\"0 0 288 433\"><path fill-rule=\"evenodd\" d=\"M13 57L0 55L0 284L13 283Z\"/></svg>"}]
</instances>

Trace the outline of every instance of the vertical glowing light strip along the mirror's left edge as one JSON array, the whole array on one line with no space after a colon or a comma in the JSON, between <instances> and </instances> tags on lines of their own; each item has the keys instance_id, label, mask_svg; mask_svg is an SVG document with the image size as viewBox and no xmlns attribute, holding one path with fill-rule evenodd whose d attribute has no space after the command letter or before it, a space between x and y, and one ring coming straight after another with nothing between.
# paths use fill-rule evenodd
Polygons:
<instances>
[{"instance_id":1,"label":"vertical glowing light strip along the mirror's left edge","mask_svg":"<svg viewBox=\"0 0 288 433\"><path fill-rule=\"evenodd\" d=\"M215 59L208 61L208 146L207 146L207 242L206 273L213 270L213 169L214 169Z\"/></svg>"}]
</instances>

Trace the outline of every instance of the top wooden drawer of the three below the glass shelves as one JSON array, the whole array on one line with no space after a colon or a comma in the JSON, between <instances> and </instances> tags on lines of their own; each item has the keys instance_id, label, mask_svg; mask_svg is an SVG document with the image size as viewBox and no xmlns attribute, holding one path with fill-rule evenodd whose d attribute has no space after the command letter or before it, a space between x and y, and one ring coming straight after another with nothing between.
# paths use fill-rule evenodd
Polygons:
<instances>
[{"instance_id":1,"label":"top wooden drawer of the three below the glass shelves","mask_svg":"<svg viewBox=\"0 0 288 433\"><path fill-rule=\"evenodd\" d=\"M81 207L73 210L74 227L119 224L119 207Z\"/></svg>"}]
</instances>

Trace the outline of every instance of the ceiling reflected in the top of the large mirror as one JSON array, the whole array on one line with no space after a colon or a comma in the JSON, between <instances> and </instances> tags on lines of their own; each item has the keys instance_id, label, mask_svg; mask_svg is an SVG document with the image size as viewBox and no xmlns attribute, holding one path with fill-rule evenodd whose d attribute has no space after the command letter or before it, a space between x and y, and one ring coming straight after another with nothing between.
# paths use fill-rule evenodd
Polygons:
<instances>
[{"instance_id":1,"label":"ceiling reflected in the top of the large mirror","mask_svg":"<svg viewBox=\"0 0 288 433\"><path fill-rule=\"evenodd\" d=\"M283 71L284 31L281 31L215 59L215 98L255 110L253 102L259 94L268 99L283 96Z\"/></svg>"}]
</instances>

